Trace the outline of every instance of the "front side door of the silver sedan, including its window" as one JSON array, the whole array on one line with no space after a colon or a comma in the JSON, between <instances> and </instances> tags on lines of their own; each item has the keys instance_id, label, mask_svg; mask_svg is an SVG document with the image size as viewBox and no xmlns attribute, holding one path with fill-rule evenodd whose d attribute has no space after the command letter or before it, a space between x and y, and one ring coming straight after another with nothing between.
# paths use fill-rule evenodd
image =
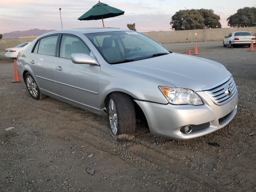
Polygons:
<instances>
[{"instance_id":1,"label":"front side door of the silver sedan, including its window","mask_svg":"<svg viewBox=\"0 0 256 192\"><path fill-rule=\"evenodd\" d=\"M60 97L84 107L98 107L100 66L75 64L73 53L93 54L84 40L72 34L62 34L56 58L55 79Z\"/></svg>"}]
</instances>

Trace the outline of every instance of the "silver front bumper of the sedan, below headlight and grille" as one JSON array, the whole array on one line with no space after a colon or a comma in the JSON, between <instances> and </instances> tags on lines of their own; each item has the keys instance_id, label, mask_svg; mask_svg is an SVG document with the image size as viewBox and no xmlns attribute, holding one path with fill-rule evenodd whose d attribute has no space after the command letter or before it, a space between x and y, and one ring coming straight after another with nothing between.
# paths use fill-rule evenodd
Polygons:
<instances>
[{"instance_id":1,"label":"silver front bumper of the sedan, below headlight and grille","mask_svg":"<svg viewBox=\"0 0 256 192\"><path fill-rule=\"evenodd\" d=\"M236 115L238 94L230 102L218 106L206 95L205 92L197 92L204 105L172 105L157 104L135 100L144 112L150 133L156 136L172 138L175 140L189 140L214 132L228 124ZM229 116L219 123L219 119ZM200 125L210 123L208 128L184 134L180 131L182 126Z\"/></svg>"}]
</instances>

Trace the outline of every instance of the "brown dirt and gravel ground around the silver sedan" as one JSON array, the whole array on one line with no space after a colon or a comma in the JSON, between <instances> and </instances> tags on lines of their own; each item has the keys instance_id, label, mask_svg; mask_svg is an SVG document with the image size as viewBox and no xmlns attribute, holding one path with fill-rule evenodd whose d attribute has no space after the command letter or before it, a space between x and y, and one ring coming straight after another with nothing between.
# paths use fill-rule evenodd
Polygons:
<instances>
[{"instance_id":1,"label":"brown dirt and gravel ground around the silver sedan","mask_svg":"<svg viewBox=\"0 0 256 192\"><path fill-rule=\"evenodd\" d=\"M187 53L194 44L164 46ZM189 141L158 138L138 124L124 143L111 138L106 118L50 97L33 100L12 83L12 60L0 57L0 191L256 191L256 52L247 50L198 43L199 56L224 64L238 86L230 124Z\"/></svg>"}]
</instances>

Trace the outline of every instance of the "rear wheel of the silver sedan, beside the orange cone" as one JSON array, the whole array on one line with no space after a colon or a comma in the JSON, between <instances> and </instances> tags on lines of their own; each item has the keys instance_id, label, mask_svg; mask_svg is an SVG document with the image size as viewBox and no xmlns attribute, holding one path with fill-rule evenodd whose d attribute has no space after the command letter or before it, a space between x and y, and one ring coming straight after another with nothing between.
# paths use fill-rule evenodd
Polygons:
<instances>
[{"instance_id":1,"label":"rear wheel of the silver sedan, beside the orange cone","mask_svg":"<svg viewBox=\"0 0 256 192\"><path fill-rule=\"evenodd\" d=\"M34 78L30 73L27 72L25 74L24 80L25 80L25 84L28 89L28 92L33 99L41 100L46 97L45 95L41 94L40 89L36 84L36 81L34 80Z\"/></svg>"}]
</instances>

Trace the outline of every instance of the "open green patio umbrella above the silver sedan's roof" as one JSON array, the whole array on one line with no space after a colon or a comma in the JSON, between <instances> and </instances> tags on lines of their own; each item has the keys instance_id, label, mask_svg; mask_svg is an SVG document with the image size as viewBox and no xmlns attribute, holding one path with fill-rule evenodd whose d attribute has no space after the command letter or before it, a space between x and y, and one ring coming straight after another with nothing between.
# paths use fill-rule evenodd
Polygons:
<instances>
[{"instance_id":1,"label":"open green patio umbrella above the silver sedan's roof","mask_svg":"<svg viewBox=\"0 0 256 192\"><path fill-rule=\"evenodd\" d=\"M103 19L116 17L124 14L124 11L108 6L107 4L101 3L100 1L94 5L88 12L80 16L78 20L99 20L102 19L102 24L104 26Z\"/></svg>"}]
</instances>

